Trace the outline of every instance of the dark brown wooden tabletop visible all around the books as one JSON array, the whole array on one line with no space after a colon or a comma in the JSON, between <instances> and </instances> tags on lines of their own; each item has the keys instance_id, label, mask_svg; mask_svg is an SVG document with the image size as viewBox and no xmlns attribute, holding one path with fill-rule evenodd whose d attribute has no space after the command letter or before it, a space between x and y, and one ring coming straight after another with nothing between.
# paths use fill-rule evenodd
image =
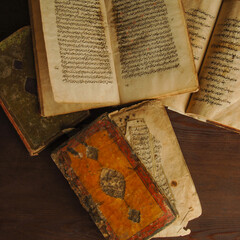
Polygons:
<instances>
[{"instance_id":1,"label":"dark brown wooden tabletop visible all around the books","mask_svg":"<svg viewBox=\"0 0 240 240\"><path fill-rule=\"evenodd\" d=\"M0 40L29 24L26 0L1 0ZM82 128L106 110L93 110ZM174 240L240 240L240 135L169 111L203 208ZM0 109L0 240L103 240L50 158L30 157Z\"/></svg>"}]
</instances>

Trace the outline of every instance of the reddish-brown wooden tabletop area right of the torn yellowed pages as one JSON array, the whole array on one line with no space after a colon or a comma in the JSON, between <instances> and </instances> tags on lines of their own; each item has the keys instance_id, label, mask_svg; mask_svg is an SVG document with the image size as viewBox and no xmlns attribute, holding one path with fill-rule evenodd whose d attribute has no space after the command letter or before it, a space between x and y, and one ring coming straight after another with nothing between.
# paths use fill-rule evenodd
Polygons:
<instances>
[{"instance_id":1,"label":"reddish-brown wooden tabletop area right of the torn yellowed pages","mask_svg":"<svg viewBox=\"0 0 240 240\"><path fill-rule=\"evenodd\" d=\"M240 136L169 111L203 208L176 239L240 239ZM171 239L171 238L170 238Z\"/></svg>"}]
</instances>

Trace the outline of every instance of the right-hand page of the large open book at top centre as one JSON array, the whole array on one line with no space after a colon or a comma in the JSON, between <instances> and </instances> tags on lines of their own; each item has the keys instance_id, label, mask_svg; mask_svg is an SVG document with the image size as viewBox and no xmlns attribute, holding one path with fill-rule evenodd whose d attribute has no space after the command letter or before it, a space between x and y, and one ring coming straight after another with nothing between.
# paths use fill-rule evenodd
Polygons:
<instances>
[{"instance_id":1,"label":"right-hand page of the large open book at top centre","mask_svg":"<svg viewBox=\"0 0 240 240\"><path fill-rule=\"evenodd\" d=\"M198 89L181 1L107 1L121 103Z\"/></svg>"}]
</instances>

